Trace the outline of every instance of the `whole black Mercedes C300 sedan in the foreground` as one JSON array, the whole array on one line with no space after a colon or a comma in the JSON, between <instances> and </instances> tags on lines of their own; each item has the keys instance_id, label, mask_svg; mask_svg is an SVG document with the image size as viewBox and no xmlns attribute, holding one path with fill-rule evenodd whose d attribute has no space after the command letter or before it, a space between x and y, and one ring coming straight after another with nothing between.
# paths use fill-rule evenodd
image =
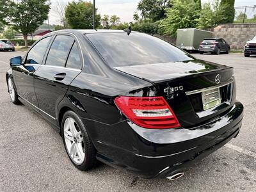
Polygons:
<instances>
[{"instance_id":1,"label":"whole black Mercedes C300 sedan in the foreground","mask_svg":"<svg viewBox=\"0 0 256 192\"><path fill-rule=\"evenodd\" d=\"M140 177L177 179L241 128L232 67L144 33L55 31L10 66L12 102L60 131L79 170L99 160Z\"/></svg>"}]
</instances>

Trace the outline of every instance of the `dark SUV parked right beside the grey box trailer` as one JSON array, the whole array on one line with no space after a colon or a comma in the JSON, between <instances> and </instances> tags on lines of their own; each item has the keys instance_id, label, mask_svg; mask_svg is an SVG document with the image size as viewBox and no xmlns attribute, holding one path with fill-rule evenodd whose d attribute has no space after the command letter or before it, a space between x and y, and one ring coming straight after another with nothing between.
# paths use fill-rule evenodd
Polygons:
<instances>
[{"instance_id":1,"label":"dark SUV parked right beside the grey box trailer","mask_svg":"<svg viewBox=\"0 0 256 192\"><path fill-rule=\"evenodd\" d=\"M205 38L199 45L199 53L212 52L214 54L220 54L225 52L228 54L230 46L225 42L223 38Z\"/></svg>"}]
</instances>

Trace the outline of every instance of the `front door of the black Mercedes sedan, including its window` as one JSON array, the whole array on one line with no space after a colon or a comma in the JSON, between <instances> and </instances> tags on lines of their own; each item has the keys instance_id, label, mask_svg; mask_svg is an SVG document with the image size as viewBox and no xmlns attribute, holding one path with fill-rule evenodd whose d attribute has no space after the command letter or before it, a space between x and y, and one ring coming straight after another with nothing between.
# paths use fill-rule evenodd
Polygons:
<instances>
[{"instance_id":1,"label":"front door of the black Mercedes sedan, including its window","mask_svg":"<svg viewBox=\"0 0 256 192\"><path fill-rule=\"evenodd\" d=\"M36 70L42 65L44 54L52 36L47 36L38 41L23 58L20 66L13 67L15 72L14 81L19 97L24 99L29 106L38 110L33 77Z\"/></svg>"}]
</instances>

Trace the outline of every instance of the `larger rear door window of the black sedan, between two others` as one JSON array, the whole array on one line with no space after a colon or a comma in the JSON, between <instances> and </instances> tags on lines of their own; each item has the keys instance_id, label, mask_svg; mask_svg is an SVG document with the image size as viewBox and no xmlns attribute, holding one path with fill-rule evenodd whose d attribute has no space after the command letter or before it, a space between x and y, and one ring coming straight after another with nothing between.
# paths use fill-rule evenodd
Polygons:
<instances>
[{"instance_id":1,"label":"larger rear door window of the black sedan, between two others","mask_svg":"<svg viewBox=\"0 0 256 192\"><path fill-rule=\"evenodd\" d=\"M45 65L64 67L68 52L70 51L73 43L74 38L72 38L72 36L57 35L51 45Z\"/></svg>"}]
</instances>

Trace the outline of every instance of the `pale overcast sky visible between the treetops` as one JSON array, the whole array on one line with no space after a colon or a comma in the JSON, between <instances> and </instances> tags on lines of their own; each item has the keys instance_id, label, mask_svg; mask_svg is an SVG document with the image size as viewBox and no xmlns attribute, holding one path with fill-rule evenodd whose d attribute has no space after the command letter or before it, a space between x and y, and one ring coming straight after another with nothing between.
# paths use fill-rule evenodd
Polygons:
<instances>
[{"instance_id":1,"label":"pale overcast sky visible between the treetops","mask_svg":"<svg viewBox=\"0 0 256 192\"><path fill-rule=\"evenodd\" d=\"M67 4L72 0L51 0L51 11L49 13L49 24L60 24L60 19L54 11L57 1ZM87 0L93 2L93 0ZM138 2L140 0L95 0L96 8L100 15L118 15L122 22L131 22L133 13L136 11ZM211 0L201 0L202 3L207 3ZM255 5L256 0L236 0L236 6L250 6Z\"/></svg>"}]
</instances>

